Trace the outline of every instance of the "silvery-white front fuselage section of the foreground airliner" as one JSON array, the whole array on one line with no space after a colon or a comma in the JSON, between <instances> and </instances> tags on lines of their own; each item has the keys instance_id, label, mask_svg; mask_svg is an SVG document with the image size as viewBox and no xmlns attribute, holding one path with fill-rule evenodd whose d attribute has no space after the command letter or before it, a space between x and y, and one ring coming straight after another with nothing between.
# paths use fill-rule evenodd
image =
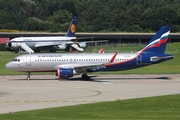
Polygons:
<instances>
[{"instance_id":1,"label":"silvery-white front fuselage section of the foreground airliner","mask_svg":"<svg viewBox=\"0 0 180 120\"><path fill-rule=\"evenodd\" d=\"M114 53L73 54L26 54L13 59L6 67L14 71L57 71L58 68L75 68L81 65L121 64L135 59L137 53L118 54L113 63L108 63ZM137 60L137 62L141 62ZM138 64L138 63L137 63ZM118 68L116 68L118 70Z\"/></svg>"}]
</instances>

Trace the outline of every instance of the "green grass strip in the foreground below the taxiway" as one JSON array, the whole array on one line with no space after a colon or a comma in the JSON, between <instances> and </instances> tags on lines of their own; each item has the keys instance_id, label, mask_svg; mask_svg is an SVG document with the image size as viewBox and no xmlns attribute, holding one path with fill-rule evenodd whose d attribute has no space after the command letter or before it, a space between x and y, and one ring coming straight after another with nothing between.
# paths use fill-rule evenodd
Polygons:
<instances>
[{"instance_id":1,"label":"green grass strip in the foreground below the taxiway","mask_svg":"<svg viewBox=\"0 0 180 120\"><path fill-rule=\"evenodd\" d=\"M118 100L1 114L2 120L179 120L180 95Z\"/></svg>"}]
</instances>

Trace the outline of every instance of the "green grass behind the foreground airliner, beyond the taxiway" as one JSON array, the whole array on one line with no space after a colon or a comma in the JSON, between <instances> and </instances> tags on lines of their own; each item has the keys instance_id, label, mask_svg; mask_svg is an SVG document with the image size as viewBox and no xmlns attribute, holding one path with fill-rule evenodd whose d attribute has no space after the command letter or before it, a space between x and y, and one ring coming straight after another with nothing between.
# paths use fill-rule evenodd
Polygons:
<instances>
[{"instance_id":1,"label":"green grass behind the foreground airliner, beyond the taxiway","mask_svg":"<svg viewBox=\"0 0 180 120\"><path fill-rule=\"evenodd\" d=\"M85 52L98 52L102 47L105 48L105 52L137 52L141 50L144 45L133 45L133 44L110 44L110 45L100 45L88 47ZM174 55L174 59L156 64L151 66L146 66L143 68L117 71L117 72L98 72L95 74L177 74L180 73L180 42L167 44L166 53ZM58 51L61 52L61 51ZM7 70L5 64L11 61L15 56L13 52L1 51L0 52L0 75L15 75L15 74L26 74L23 72L14 72ZM32 74L52 74L53 73L32 73ZM92 73L94 74L94 73Z\"/></svg>"}]
</instances>

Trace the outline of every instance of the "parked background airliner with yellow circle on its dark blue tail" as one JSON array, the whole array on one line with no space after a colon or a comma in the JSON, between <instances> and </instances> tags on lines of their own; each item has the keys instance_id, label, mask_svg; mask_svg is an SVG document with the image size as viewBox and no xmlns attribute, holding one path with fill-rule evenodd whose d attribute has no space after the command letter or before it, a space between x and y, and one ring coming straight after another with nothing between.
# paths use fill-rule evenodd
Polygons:
<instances>
[{"instance_id":1,"label":"parked background airliner with yellow circle on its dark blue tail","mask_svg":"<svg viewBox=\"0 0 180 120\"><path fill-rule=\"evenodd\" d=\"M52 37L17 37L12 39L6 44L6 48L11 48L18 52L24 49L28 53L34 53L34 50L40 52L42 48L50 48L51 52L55 52L56 49L71 51L73 49L77 51L84 51L87 43L107 42L102 41L84 41L74 42L78 39L90 39L90 38L76 38L76 17L72 19L70 27L65 36L52 36Z\"/></svg>"}]
</instances>

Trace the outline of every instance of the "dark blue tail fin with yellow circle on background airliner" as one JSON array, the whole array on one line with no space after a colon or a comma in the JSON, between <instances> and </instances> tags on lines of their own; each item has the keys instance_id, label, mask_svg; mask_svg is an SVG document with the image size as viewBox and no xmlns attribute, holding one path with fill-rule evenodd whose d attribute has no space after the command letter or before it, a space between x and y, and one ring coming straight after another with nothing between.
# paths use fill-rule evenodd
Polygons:
<instances>
[{"instance_id":1,"label":"dark blue tail fin with yellow circle on background airliner","mask_svg":"<svg viewBox=\"0 0 180 120\"><path fill-rule=\"evenodd\" d=\"M76 17L74 17L72 19L72 22L71 22L69 29L65 36L66 37L75 37L75 32L76 32Z\"/></svg>"}]
</instances>

